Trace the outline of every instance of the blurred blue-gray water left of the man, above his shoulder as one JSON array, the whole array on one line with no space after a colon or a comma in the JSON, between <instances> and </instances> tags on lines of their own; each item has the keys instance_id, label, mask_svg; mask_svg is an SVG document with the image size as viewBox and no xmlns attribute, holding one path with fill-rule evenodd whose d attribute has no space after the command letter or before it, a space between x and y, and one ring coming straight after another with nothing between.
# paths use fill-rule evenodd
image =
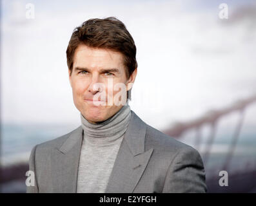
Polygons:
<instances>
[{"instance_id":1,"label":"blurred blue-gray water left of the man, above his shoulder","mask_svg":"<svg viewBox=\"0 0 256 206\"><path fill-rule=\"evenodd\" d=\"M34 145L65 135L77 127L3 124L1 126L1 164L27 162Z\"/></svg>"}]
</instances>

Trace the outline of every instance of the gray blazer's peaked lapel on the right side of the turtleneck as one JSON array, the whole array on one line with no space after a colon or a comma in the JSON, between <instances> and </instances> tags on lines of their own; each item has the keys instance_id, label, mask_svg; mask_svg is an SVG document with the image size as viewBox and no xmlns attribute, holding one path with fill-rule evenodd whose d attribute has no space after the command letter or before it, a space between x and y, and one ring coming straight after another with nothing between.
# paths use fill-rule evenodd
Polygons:
<instances>
[{"instance_id":1,"label":"gray blazer's peaked lapel on the right side of the turtleneck","mask_svg":"<svg viewBox=\"0 0 256 206\"><path fill-rule=\"evenodd\" d=\"M130 124L117 153L106 193L132 193L153 152L153 148L148 151L144 148L146 124L133 111L131 112Z\"/></svg>"}]
</instances>

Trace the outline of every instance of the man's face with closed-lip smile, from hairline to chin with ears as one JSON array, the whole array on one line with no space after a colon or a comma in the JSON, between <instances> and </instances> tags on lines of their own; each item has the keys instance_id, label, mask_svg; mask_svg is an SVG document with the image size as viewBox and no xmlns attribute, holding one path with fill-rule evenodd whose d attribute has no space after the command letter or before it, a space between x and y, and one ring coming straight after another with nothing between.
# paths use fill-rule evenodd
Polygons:
<instances>
[{"instance_id":1,"label":"man's face with closed-lip smile, from hairline to chin with ears","mask_svg":"<svg viewBox=\"0 0 256 206\"><path fill-rule=\"evenodd\" d=\"M121 83L124 86L126 97L126 91L132 87L131 83L137 75L135 69L129 79L126 77L120 52L91 48L84 44L75 50L71 76L68 71L75 107L91 123L104 121L123 107L124 104L115 104L114 98L119 97L117 93L120 94L122 90L116 90L115 85Z\"/></svg>"}]
</instances>

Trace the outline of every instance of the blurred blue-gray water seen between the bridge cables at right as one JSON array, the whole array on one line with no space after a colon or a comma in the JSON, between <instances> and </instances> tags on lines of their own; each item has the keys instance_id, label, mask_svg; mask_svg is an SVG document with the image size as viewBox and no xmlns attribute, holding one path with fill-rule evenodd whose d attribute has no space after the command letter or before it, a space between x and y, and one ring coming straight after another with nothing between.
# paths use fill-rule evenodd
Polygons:
<instances>
[{"instance_id":1,"label":"blurred blue-gray water seen between the bridge cables at right","mask_svg":"<svg viewBox=\"0 0 256 206\"><path fill-rule=\"evenodd\" d=\"M189 135L187 135L189 136ZM208 177L219 175L219 171L224 170L226 160L230 154L232 135L227 131L220 132L213 140L212 147L207 147L208 138L202 138L200 147L195 145L195 140L190 138L181 138L181 142L191 145L199 151L204 162L204 168ZM206 152L209 152L206 161ZM256 133L243 131L233 148L226 171L229 174L242 173L244 171L256 170Z\"/></svg>"}]
</instances>

